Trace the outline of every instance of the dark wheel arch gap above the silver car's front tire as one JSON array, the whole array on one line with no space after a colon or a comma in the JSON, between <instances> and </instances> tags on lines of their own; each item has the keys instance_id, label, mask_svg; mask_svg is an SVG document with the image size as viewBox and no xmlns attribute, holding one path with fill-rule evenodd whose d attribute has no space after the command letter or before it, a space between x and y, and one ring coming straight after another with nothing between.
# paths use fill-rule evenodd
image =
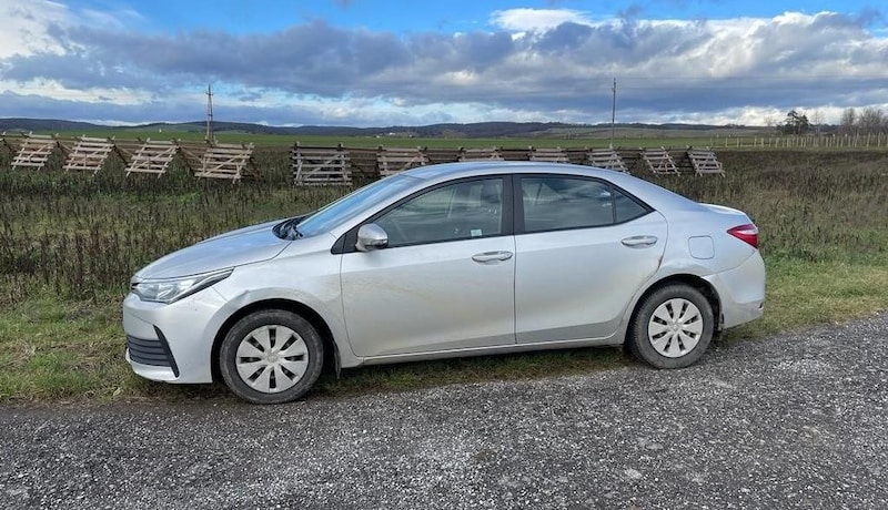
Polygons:
<instances>
[{"instance_id":1,"label":"dark wheel arch gap above the silver car's front tire","mask_svg":"<svg viewBox=\"0 0 888 510\"><path fill-rule=\"evenodd\" d=\"M213 348L210 354L210 367L212 370L213 381L221 381L222 374L219 368L219 351L222 347L222 340L225 338L225 335L229 334L232 327L238 324L238 320L246 317L248 315L259 312L259 310L269 310L269 309L280 309L284 312L292 312L305 320L307 320L312 327L317 330L317 334L321 335L321 340L324 345L324 351L326 355L324 356L323 360L323 371L326 370L335 370L336 374L340 371L340 354L339 348L336 347L336 343L333 339L333 332L330 329L330 326L321 317L317 312L312 309L310 306L294 302L291 299L265 299L259 300L255 303L251 303L243 308L239 309L234 314L231 315L225 322L222 324L222 327L215 334L213 338Z\"/></svg>"}]
</instances>

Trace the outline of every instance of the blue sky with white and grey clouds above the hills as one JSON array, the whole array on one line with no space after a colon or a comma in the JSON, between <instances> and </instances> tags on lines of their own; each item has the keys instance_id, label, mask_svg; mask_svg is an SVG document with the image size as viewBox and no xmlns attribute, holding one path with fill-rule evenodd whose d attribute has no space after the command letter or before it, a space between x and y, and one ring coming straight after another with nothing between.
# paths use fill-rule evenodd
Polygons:
<instances>
[{"instance_id":1,"label":"blue sky with white and grey clouds above the hills","mask_svg":"<svg viewBox=\"0 0 888 510\"><path fill-rule=\"evenodd\" d=\"M884 0L0 0L0 118L838 123L888 111Z\"/></svg>"}]
</instances>

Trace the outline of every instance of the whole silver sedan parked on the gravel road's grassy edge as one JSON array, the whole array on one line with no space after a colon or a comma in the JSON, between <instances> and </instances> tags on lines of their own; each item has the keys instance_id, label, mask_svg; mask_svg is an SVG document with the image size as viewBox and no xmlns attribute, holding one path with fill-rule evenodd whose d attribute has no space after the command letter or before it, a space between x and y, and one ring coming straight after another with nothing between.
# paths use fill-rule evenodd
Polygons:
<instances>
[{"instance_id":1,"label":"whole silver sedan parked on the gravel road's grassy edge","mask_svg":"<svg viewBox=\"0 0 888 510\"><path fill-rule=\"evenodd\" d=\"M170 254L133 276L123 328L142 377L279 404L325 360L626 343L682 368L764 299L740 211L588 166L454 163Z\"/></svg>"}]
</instances>

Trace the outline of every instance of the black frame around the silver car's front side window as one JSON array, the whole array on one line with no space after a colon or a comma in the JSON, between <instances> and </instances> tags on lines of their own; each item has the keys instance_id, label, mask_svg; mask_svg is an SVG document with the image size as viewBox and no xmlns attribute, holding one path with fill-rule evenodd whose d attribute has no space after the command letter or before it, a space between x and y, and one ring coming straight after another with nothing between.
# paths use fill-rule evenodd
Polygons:
<instances>
[{"instance_id":1,"label":"black frame around the silver car's front side window","mask_svg":"<svg viewBox=\"0 0 888 510\"><path fill-rule=\"evenodd\" d=\"M438 239L438 241L410 243L410 244L403 244L403 245L398 245L398 246L386 247L384 249L397 249L400 247L423 246L423 245L428 245L428 244L451 243L451 242L455 242L455 241L472 241L473 238L485 239L485 238L491 238L491 237L500 237L500 236L505 236L505 235L513 235L514 232L515 232L514 231L514 216L515 216L515 214L514 214L514 205L513 205L514 204L514 200L512 198L512 196L514 194L513 193L512 178L509 178L509 176L505 175L505 174L475 175L475 176L471 176L471 177L455 178L455 180L452 180L452 181L446 181L446 182L443 182L443 183L434 184L432 186L428 186L426 188L420 190L420 191L417 191L415 193L412 193L412 194L401 198L400 201L397 201L394 204L383 208L382 211L379 211L379 212L372 214L366 220L364 220L363 222L361 222L360 224L357 224L353 228L351 228L349 232L343 234L339 239L336 239L336 243L333 245L333 247L331 249L331 253L333 253L333 254L356 253L357 248L355 248L355 244L357 243L357 231L359 231L359 228L361 228L363 225L366 225L369 223L375 223L379 218L385 216L391 211L402 206L403 204L405 204L407 202L413 201L414 198L417 198L417 197L420 197L422 195L432 193L432 192L434 192L436 190L441 190L441 188L447 187L447 186L460 185L460 184L465 184L465 183L472 183L472 182L477 182L477 181L492 181L492 180L498 180L501 182L501 184L502 184L502 190L503 190L503 196L502 196L502 200L501 200L501 206L502 206L503 211L502 211L502 215L501 215L501 220L500 220L500 233L492 234L492 235L482 235L482 236L478 236L478 237L466 237L466 238L460 238L460 239Z\"/></svg>"}]
</instances>

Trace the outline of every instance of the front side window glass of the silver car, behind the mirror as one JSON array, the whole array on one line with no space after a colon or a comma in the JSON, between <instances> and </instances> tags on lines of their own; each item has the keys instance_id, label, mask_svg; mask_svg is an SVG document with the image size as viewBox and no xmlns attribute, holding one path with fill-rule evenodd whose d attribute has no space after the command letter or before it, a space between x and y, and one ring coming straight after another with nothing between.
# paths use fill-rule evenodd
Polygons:
<instances>
[{"instance_id":1,"label":"front side window glass of the silver car, behind the mirror","mask_svg":"<svg viewBox=\"0 0 888 510\"><path fill-rule=\"evenodd\" d=\"M465 181L434 188L396 205L374 223L389 246L406 246L500 235L503 180Z\"/></svg>"}]
</instances>

